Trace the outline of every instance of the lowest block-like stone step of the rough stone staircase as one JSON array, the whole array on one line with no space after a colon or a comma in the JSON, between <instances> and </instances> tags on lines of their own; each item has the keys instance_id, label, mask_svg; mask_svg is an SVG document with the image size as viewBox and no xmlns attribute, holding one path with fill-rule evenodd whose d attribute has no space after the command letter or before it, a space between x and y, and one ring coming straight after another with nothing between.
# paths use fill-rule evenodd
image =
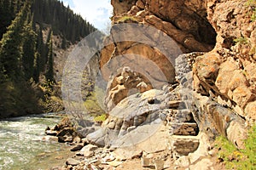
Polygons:
<instances>
[{"instance_id":1,"label":"lowest block-like stone step of the rough stone staircase","mask_svg":"<svg viewBox=\"0 0 256 170\"><path fill-rule=\"evenodd\" d=\"M189 153L197 150L199 146L199 139L197 136L171 136L171 149L176 152L178 156L188 156Z\"/></svg>"}]
</instances>

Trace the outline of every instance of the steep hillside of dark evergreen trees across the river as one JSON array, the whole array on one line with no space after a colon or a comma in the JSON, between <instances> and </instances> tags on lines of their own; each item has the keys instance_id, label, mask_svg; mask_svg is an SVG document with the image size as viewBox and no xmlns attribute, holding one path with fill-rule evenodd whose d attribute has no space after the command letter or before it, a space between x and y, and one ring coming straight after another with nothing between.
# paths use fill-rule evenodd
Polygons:
<instances>
[{"instance_id":1,"label":"steep hillside of dark evergreen trees across the river","mask_svg":"<svg viewBox=\"0 0 256 170\"><path fill-rule=\"evenodd\" d=\"M66 49L95 30L57 0L0 0L0 118L44 111L56 84L54 35Z\"/></svg>"}]
</instances>

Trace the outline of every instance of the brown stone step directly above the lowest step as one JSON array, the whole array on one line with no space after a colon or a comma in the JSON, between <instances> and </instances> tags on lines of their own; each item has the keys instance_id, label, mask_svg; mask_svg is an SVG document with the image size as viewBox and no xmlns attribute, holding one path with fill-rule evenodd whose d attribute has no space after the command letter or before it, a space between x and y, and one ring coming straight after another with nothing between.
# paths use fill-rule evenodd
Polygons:
<instances>
[{"instance_id":1,"label":"brown stone step directly above the lowest step","mask_svg":"<svg viewBox=\"0 0 256 170\"><path fill-rule=\"evenodd\" d=\"M192 135L195 136L199 132L198 126L195 122L170 123L171 135Z\"/></svg>"}]
</instances>

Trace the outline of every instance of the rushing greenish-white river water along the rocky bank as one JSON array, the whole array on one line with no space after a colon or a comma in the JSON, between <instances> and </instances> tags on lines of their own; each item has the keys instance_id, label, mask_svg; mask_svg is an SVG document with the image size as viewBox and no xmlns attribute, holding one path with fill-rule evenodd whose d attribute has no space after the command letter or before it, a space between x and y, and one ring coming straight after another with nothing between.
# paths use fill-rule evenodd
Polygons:
<instances>
[{"instance_id":1,"label":"rushing greenish-white river water along the rocky bank","mask_svg":"<svg viewBox=\"0 0 256 170\"><path fill-rule=\"evenodd\" d=\"M49 169L64 165L69 147L45 141L44 129L60 122L61 116L44 114L0 121L0 169Z\"/></svg>"}]
</instances>

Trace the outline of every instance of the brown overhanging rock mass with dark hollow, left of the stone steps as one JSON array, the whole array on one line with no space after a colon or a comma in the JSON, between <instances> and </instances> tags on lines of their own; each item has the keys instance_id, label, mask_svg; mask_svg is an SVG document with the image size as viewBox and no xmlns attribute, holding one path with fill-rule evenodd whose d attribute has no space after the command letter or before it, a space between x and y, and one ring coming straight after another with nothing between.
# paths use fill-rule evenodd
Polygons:
<instances>
[{"instance_id":1,"label":"brown overhanging rock mass with dark hollow, left of the stone steps","mask_svg":"<svg viewBox=\"0 0 256 170\"><path fill-rule=\"evenodd\" d=\"M160 89L162 82L174 83L173 61L179 54L207 52L214 47L216 33L207 21L206 3L149 0L112 0L111 3L113 24L135 23L153 26L155 30L148 33L143 29L134 29L131 31L135 32L132 37L140 36L129 38L129 29L115 29L113 26L111 36L106 38L100 67L105 80L111 77L105 102L108 111L131 94L152 88ZM159 32L170 37L173 42L163 41ZM168 58L170 54L171 59ZM126 72L126 76L124 66L131 70L130 73Z\"/></svg>"}]
</instances>

